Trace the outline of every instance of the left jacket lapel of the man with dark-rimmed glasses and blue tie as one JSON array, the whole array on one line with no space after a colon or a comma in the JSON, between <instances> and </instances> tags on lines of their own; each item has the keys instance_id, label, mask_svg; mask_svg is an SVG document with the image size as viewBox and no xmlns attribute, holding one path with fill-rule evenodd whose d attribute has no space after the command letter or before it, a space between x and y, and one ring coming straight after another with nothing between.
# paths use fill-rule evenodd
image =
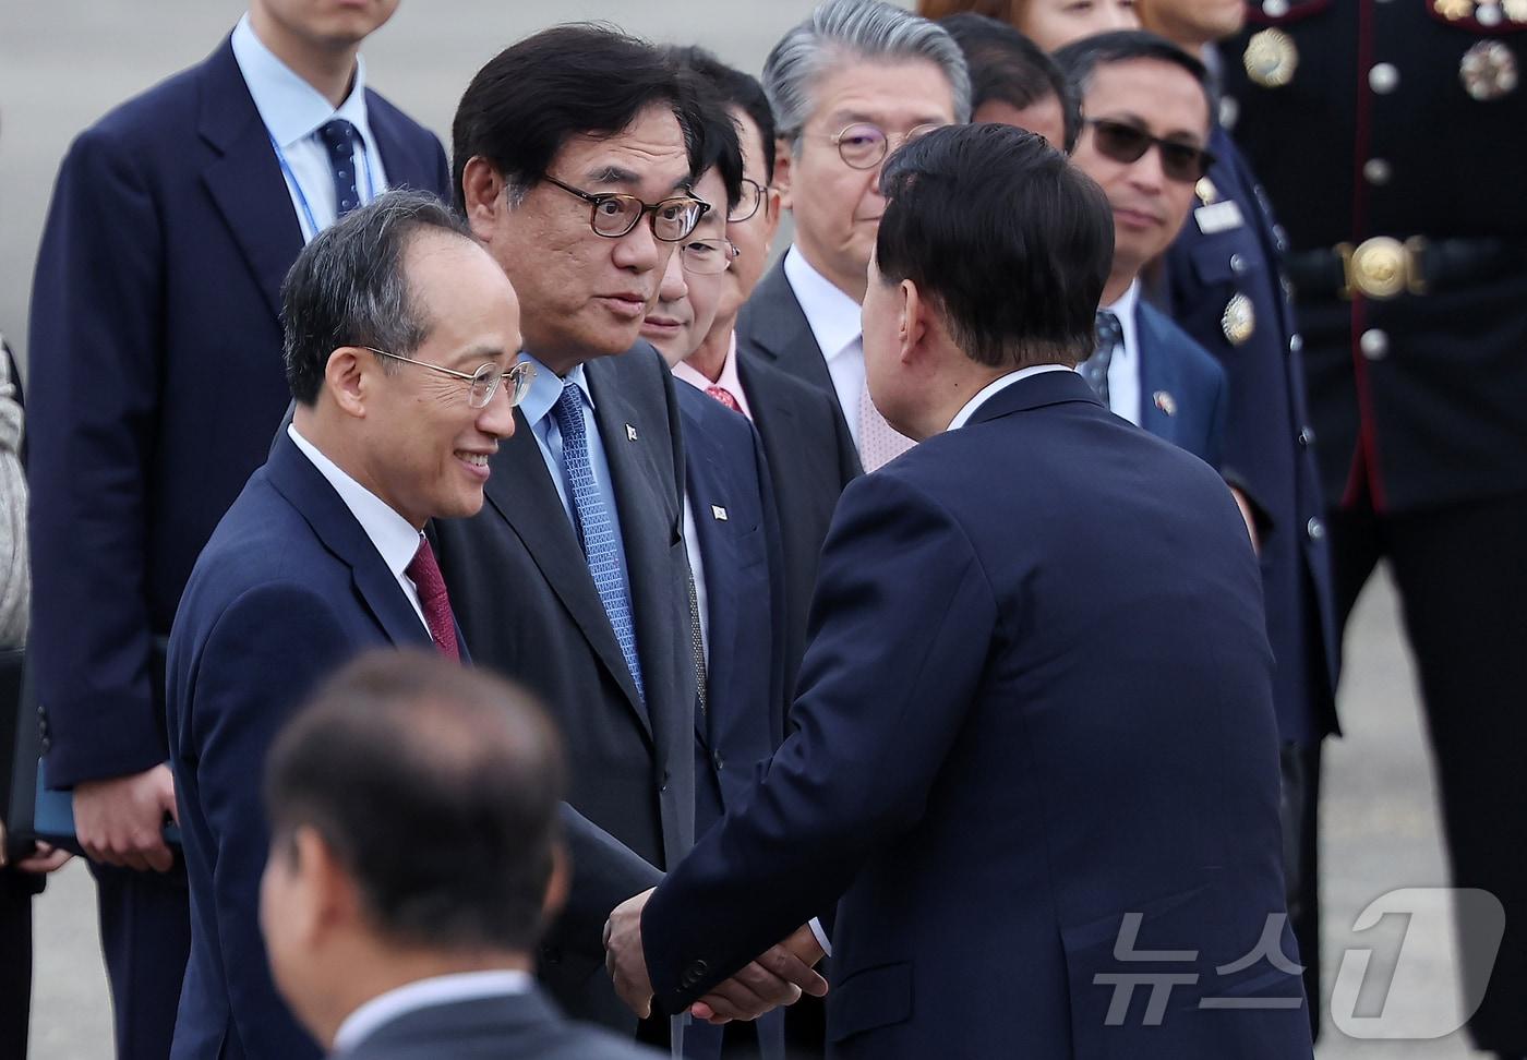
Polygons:
<instances>
[{"instance_id":1,"label":"left jacket lapel of the man with dark-rimmed glasses and blue tie","mask_svg":"<svg viewBox=\"0 0 1527 1060\"><path fill-rule=\"evenodd\" d=\"M620 684L641 727L651 736L652 722L637 695L615 631L588 573L588 561L583 557L577 532L568 519L567 509L562 507L562 496L551 481L545 457L541 455L541 443L536 441L519 409L515 411L513 437L499 443L498 455L493 458L493 473L487 480L486 495L493 510L524 544L547 585L562 600L562 606L568 609L594 654L605 663L605 669Z\"/></svg>"}]
</instances>

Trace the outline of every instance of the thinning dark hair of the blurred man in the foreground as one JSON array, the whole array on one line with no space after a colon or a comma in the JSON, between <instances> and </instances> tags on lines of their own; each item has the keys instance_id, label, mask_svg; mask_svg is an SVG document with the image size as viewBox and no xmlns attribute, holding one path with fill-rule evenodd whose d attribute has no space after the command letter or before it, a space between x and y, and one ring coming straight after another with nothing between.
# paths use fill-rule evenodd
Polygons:
<instances>
[{"instance_id":1,"label":"thinning dark hair of the blurred man in the foreground","mask_svg":"<svg viewBox=\"0 0 1527 1060\"><path fill-rule=\"evenodd\" d=\"M565 787L556 730L528 693L438 654L377 651L276 738L272 857L293 857L295 831L312 828L392 942L533 952Z\"/></svg>"}]
</instances>

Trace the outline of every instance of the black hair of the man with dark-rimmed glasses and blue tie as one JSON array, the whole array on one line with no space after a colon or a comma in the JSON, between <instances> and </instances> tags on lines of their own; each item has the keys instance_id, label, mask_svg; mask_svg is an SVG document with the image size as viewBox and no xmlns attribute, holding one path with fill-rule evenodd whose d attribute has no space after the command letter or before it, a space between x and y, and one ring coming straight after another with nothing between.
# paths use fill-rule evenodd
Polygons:
<instances>
[{"instance_id":1,"label":"black hair of the man with dark-rimmed glasses and blue tie","mask_svg":"<svg viewBox=\"0 0 1527 1060\"><path fill-rule=\"evenodd\" d=\"M476 72L450 125L452 186L476 156L518 197L547 176L573 136L614 136L647 107L667 104L684 133L690 176L701 173L698 99L663 52L611 26L553 26L504 49Z\"/></svg>"}]
</instances>

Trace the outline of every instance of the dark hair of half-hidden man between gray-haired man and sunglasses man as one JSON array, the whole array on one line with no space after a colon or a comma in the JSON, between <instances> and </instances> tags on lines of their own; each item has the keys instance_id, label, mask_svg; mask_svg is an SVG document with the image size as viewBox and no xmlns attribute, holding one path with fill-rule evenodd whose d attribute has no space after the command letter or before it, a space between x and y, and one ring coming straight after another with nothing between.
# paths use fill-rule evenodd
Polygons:
<instances>
[{"instance_id":1,"label":"dark hair of half-hidden man between gray-haired man and sunglasses man","mask_svg":"<svg viewBox=\"0 0 1527 1060\"><path fill-rule=\"evenodd\" d=\"M1005 21L964 12L941 18L970 69L971 113L993 99L1012 107L1031 107L1054 96L1066 125L1064 147L1077 147L1081 113L1066 84L1066 75L1044 49Z\"/></svg>"}]
</instances>

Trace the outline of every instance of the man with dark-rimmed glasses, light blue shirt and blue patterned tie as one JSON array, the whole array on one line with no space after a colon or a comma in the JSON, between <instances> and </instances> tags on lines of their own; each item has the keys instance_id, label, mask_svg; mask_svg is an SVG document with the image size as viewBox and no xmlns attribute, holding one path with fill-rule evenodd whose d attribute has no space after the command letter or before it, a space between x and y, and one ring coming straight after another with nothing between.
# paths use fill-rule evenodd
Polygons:
<instances>
[{"instance_id":1,"label":"man with dark-rimmed glasses, light blue shirt and blue patterned tie","mask_svg":"<svg viewBox=\"0 0 1527 1060\"><path fill-rule=\"evenodd\" d=\"M550 707L570 802L612 837L573 848L573 900L541 974L574 1016L628 1031L603 974L605 919L695 828L680 417L640 331L678 243L725 211L693 194L705 105L654 47L560 26L490 60L454 122L457 208L515 286L536 377L483 513L440 525L441 568L475 657ZM799 961L785 970L822 988ZM762 967L745 974L776 1000L800 993ZM667 1040L667 1026L641 1037Z\"/></svg>"}]
</instances>

